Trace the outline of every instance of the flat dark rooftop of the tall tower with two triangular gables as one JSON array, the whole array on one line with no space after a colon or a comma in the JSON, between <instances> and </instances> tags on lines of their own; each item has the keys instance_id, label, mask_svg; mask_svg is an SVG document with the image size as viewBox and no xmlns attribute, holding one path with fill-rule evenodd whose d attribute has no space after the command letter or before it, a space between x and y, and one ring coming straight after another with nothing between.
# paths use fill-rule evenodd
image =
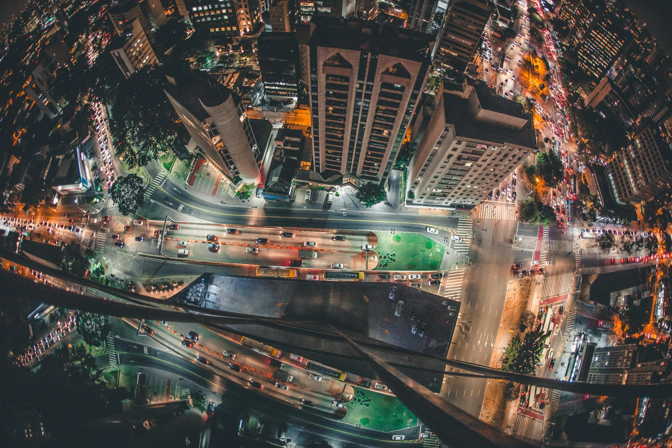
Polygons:
<instances>
[{"instance_id":1,"label":"flat dark rooftop of the tall tower with two triangular gables","mask_svg":"<svg viewBox=\"0 0 672 448\"><path fill-rule=\"evenodd\" d=\"M310 46L368 51L431 63L431 47L435 41L431 34L352 17L314 16L312 26L315 28L308 42Z\"/></svg>"}]
</instances>

